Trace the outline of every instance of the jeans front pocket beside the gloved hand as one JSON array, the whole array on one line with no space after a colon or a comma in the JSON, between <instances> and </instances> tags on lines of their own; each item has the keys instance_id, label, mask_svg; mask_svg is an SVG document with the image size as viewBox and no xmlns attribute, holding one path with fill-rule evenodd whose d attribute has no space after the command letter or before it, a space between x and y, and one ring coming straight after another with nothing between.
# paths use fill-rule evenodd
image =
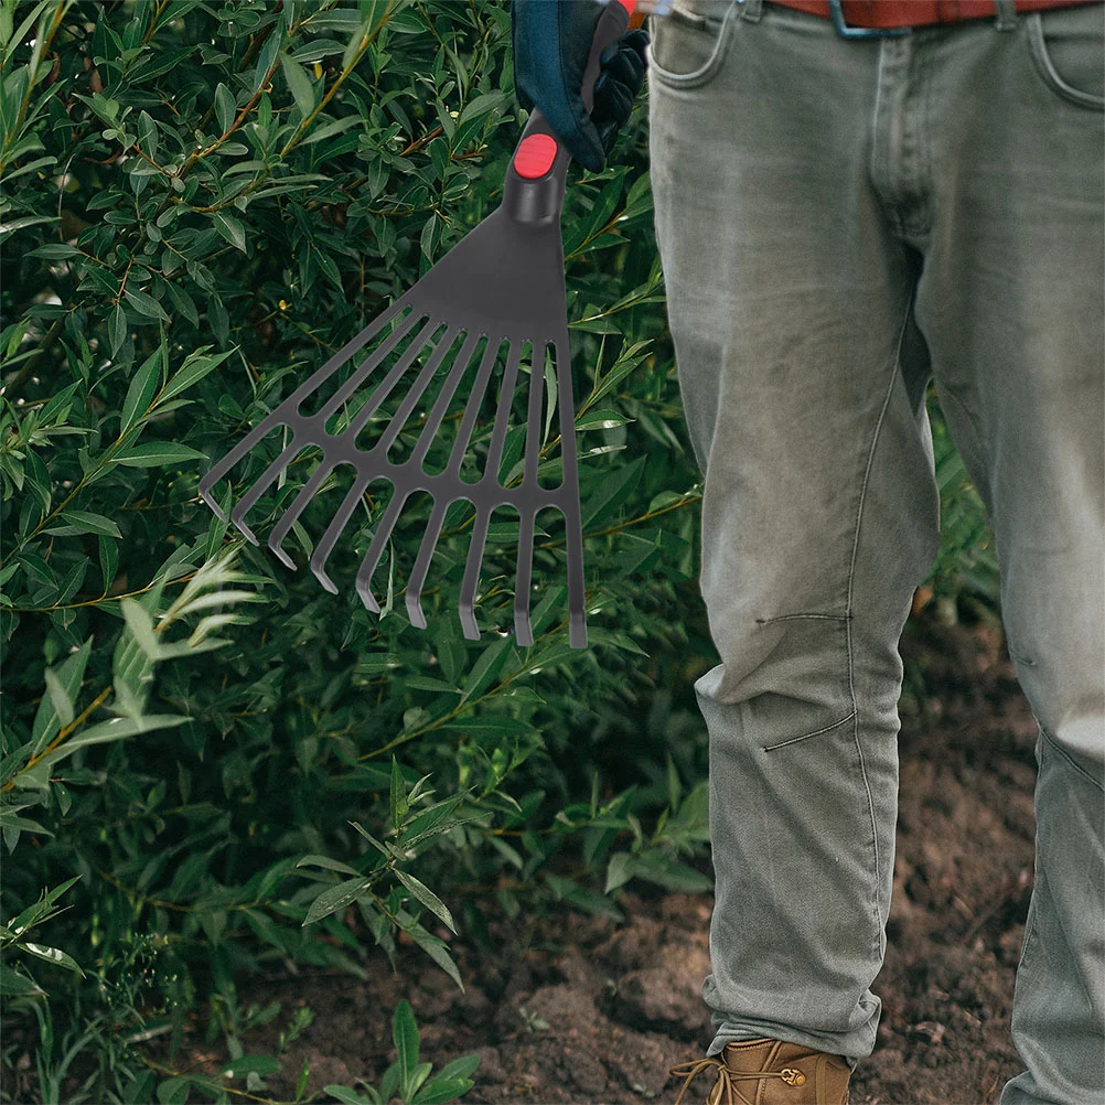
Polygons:
<instances>
[{"instance_id":1,"label":"jeans front pocket beside the gloved hand","mask_svg":"<svg viewBox=\"0 0 1105 1105\"><path fill-rule=\"evenodd\" d=\"M653 20L649 73L672 88L701 88L720 71L737 0L676 0L669 15Z\"/></svg>"}]
</instances>

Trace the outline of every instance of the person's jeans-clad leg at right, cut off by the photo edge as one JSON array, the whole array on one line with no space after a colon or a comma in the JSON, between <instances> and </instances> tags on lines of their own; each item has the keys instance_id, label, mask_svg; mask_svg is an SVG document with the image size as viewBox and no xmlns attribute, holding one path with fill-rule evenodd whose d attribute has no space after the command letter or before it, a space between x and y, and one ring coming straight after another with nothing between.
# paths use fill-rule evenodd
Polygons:
<instances>
[{"instance_id":1,"label":"person's jeans-clad leg at right, cut off by the photo edge","mask_svg":"<svg viewBox=\"0 0 1105 1105\"><path fill-rule=\"evenodd\" d=\"M1105 1102L1103 40L1101 6L1021 15L934 40L927 67L917 318L1041 726L1012 1021L1028 1070L1001 1105Z\"/></svg>"}]
</instances>

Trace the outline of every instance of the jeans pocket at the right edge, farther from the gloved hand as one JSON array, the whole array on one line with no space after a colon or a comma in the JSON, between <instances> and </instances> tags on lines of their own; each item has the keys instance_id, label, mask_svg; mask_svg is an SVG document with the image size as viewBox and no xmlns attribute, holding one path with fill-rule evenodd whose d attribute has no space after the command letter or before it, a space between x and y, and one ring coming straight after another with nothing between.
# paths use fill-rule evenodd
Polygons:
<instances>
[{"instance_id":1,"label":"jeans pocket at the right edge, farther from the gloved hand","mask_svg":"<svg viewBox=\"0 0 1105 1105\"><path fill-rule=\"evenodd\" d=\"M1105 109L1105 4L1031 12L1025 30L1044 85L1080 107Z\"/></svg>"}]
</instances>

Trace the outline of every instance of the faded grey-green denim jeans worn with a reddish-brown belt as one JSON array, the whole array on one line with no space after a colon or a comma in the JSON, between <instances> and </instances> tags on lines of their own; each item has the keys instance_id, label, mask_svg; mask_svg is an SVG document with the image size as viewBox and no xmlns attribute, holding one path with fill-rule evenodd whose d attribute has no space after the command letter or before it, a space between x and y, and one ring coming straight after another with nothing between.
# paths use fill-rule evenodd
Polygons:
<instances>
[{"instance_id":1,"label":"faded grey-green denim jeans worn with a reddish-brown belt","mask_svg":"<svg viewBox=\"0 0 1105 1105\"><path fill-rule=\"evenodd\" d=\"M1105 1101L1105 9L846 41L653 21L656 234L704 476L716 1035L871 1054L898 641L939 547L925 391L993 525L1035 746L1001 1105Z\"/></svg>"}]
</instances>

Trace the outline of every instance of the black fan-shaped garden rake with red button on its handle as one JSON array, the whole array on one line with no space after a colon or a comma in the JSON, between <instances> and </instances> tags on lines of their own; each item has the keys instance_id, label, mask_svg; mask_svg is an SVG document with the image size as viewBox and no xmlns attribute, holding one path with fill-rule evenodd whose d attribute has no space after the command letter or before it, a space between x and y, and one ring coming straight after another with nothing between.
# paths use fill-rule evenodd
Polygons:
<instances>
[{"instance_id":1,"label":"black fan-shaped garden rake with red button on its handle","mask_svg":"<svg viewBox=\"0 0 1105 1105\"><path fill-rule=\"evenodd\" d=\"M632 0L608 3L598 21L582 83L583 103L588 112L593 103L599 55L625 33L632 8ZM565 302L564 246L560 238L560 211L569 161L567 149L541 113L535 109L511 159L499 207L438 261L409 292L392 303L257 423L202 477L199 493L208 506L225 520L225 514L214 501L211 488L273 430L283 428L286 444L280 455L230 512L230 520L238 529L254 545L259 544L245 524L245 515L277 481L293 457L311 446L319 450L322 460L273 528L267 541L269 548L283 564L295 568L294 561L283 549L284 538L327 476L339 465L350 465L356 472L352 485L311 556L311 570L326 590L337 593L337 587L326 573L326 561L371 481L386 477L393 485L393 494L357 572L357 592L361 601L368 610L379 614L380 607L371 591L372 573L380 562L403 503L415 492L429 492L433 499L433 511L408 579L406 593L411 623L425 629L421 603L422 586L445 512L452 503L467 499L474 505L476 514L461 585L460 618L464 636L472 641L480 639L473 604L491 515L498 506L513 506L519 518L514 629L516 640L522 645L534 643L529 592L533 587L536 516L546 507L556 507L564 515L566 526L569 643L573 649L587 648L582 523ZM373 337L383 334L388 324L393 324L390 333L381 338L348 379L316 411L304 414L301 410L304 401L316 393L324 381L337 373ZM364 406L340 432L330 432L327 423L343 410L346 401L355 396L364 381L398 350L408 335L412 336L411 340ZM428 474L422 462L462 376L473 361L481 338L486 338L486 346L464 407L449 463L440 473ZM413 452L401 463L389 461L389 448L427 386L438 375L446 352L459 341L460 352L449 367L448 377L441 383L441 391L427 415ZM487 461L480 481L470 483L461 477L461 462L504 343L507 344L505 370ZM499 482L498 470L524 346L532 350L524 475L520 484L506 487ZM556 488L543 487L537 471L543 417L540 382L544 373L540 367L546 364L546 350L555 361L557 418L561 438L562 480ZM420 355L425 356L424 365L380 439L371 449L358 446L358 434ZM551 414L549 411L545 413Z\"/></svg>"}]
</instances>

